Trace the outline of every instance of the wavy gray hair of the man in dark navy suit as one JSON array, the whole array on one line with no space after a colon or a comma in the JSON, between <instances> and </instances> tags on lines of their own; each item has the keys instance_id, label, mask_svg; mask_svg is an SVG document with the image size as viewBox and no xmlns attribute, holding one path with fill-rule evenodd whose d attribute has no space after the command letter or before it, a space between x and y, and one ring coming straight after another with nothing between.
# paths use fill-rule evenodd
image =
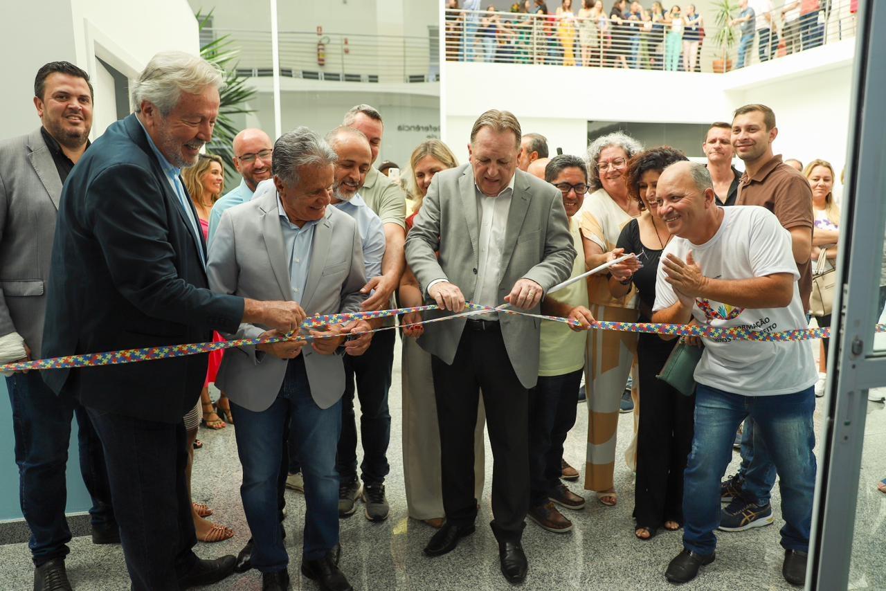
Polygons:
<instances>
[{"instance_id":1,"label":"wavy gray hair of the man in dark navy suit","mask_svg":"<svg viewBox=\"0 0 886 591\"><path fill-rule=\"evenodd\" d=\"M184 51L160 51L132 83L132 104L141 113L142 101L150 101L166 117L183 92L196 95L207 86L219 92L225 87L224 75L216 66Z\"/></svg>"}]
</instances>

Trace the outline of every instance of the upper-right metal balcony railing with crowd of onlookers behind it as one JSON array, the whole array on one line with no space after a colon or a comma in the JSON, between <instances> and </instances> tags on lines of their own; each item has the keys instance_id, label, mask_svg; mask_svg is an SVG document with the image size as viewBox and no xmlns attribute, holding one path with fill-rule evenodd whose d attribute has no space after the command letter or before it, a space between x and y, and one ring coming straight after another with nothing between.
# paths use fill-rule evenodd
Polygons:
<instances>
[{"instance_id":1,"label":"upper-right metal balcony railing with crowd of onlookers behind it","mask_svg":"<svg viewBox=\"0 0 886 591\"><path fill-rule=\"evenodd\" d=\"M741 23L734 24L735 43L728 51L713 43L719 27L704 14L697 22L648 9L626 19L605 12L546 16L450 9L445 56L449 62L723 72L855 36L850 0L821 0L819 11L805 15L798 7L785 11L790 4L757 15L751 35L742 36ZM768 28L759 30L763 24Z\"/></svg>"}]
</instances>

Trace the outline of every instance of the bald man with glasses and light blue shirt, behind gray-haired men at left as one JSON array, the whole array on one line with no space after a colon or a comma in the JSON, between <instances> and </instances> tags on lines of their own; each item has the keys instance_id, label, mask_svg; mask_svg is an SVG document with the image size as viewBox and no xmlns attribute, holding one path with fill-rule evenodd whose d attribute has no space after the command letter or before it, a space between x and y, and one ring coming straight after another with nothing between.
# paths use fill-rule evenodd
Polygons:
<instances>
[{"instance_id":1,"label":"bald man with glasses and light blue shirt, behind gray-haired men at left","mask_svg":"<svg viewBox=\"0 0 886 591\"><path fill-rule=\"evenodd\" d=\"M221 214L226 209L238 206L253 198L255 187L271 177L271 155L274 144L261 129L245 128L234 138L234 167L243 177L237 188L229 191L215 202L209 214L209 240L213 243L215 229L221 221Z\"/></svg>"}]
</instances>

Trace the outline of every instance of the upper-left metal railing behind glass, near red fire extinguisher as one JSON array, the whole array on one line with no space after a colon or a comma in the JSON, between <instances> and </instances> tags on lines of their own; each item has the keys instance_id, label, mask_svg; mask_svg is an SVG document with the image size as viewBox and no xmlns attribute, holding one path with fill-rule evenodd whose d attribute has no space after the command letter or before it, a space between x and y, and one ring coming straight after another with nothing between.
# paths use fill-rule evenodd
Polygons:
<instances>
[{"instance_id":1,"label":"upper-left metal railing behind glass, near red fire extinguisher","mask_svg":"<svg viewBox=\"0 0 886 591\"><path fill-rule=\"evenodd\" d=\"M211 29L240 50L237 72L272 76L269 31ZM280 75L335 82L435 82L439 36L344 35L280 31ZM438 34L439 35L439 34Z\"/></svg>"}]
</instances>

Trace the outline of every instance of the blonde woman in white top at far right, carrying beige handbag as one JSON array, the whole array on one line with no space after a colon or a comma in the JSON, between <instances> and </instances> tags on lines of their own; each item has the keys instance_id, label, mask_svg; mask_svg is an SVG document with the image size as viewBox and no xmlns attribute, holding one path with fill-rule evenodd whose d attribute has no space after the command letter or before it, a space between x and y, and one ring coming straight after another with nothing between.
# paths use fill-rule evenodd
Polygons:
<instances>
[{"instance_id":1,"label":"blonde woman in white top at far right, carrying beige handbag","mask_svg":"<svg viewBox=\"0 0 886 591\"><path fill-rule=\"evenodd\" d=\"M828 268L836 259L836 243L840 237L840 208L834 202L834 167L830 162L814 159L803 169L803 175L812 188L812 214L815 215L815 231L812 233L812 261L827 257ZM830 326L831 315L816 316L821 328ZM822 338L824 353L819 363L819 383L815 385L815 393L824 395L824 378L827 377L829 338Z\"/></svg>"}]
</instances>

